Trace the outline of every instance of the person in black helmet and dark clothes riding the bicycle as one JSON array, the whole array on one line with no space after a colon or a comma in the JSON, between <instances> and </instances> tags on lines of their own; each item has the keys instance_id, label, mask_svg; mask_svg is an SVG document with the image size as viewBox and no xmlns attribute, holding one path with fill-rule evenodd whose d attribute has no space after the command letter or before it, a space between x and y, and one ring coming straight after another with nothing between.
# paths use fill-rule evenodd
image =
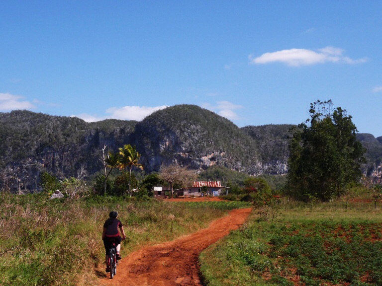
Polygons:
<instances>
[{"instance_id":1,"label":"person in black helmet and dark clothes riding the bicycle","mask_svg":"<svg viewBox=\"0 0 382 286\"><path fill-rule=\"evenodd\" d=\"M102 232L102 240L103 245L105 246L105 263L106 263L106 272L109 272L110 269L107 265L107 260L109 258L109 251L112 246L112 242L116 245L116 258L121 259L121 255L119 254L119 250L121 249L121 240L126 239L125 231L123 230L122 222L117 219L118 213L117 212L110 212L109 218L106 219L105 223L103 224L103 232ZM118 227L122 233L122 238L119 234Z\"/></svg>"}]
</instances>

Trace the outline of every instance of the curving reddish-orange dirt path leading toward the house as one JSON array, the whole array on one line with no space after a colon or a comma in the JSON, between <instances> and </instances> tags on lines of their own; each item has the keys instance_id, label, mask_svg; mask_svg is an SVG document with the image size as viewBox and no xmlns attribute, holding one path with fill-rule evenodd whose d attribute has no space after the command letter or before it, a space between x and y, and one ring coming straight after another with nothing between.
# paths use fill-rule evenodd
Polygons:
<instances>
[{"instance_id":1,"label":"curving reddish-orange dirt path leading toward the house","mask_svg":"<svg viewBox=\"0 0 382 286\"><path fill-rule=\"evenodd\" d=\"M183 199L185 200L185 199ZM142 248L120 260L117 275L104 285L201 286L198 257L202 250L238 229L252 209L235 209L210 225L177 240Z\"/></svg>"}]
</instances>

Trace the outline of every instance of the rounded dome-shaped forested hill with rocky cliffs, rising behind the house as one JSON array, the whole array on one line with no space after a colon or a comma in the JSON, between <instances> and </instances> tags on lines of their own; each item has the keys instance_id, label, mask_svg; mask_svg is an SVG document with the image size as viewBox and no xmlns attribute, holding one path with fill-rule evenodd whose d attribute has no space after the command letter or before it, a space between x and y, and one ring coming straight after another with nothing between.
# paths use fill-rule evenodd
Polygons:
<instances>
[{"instance_id":1,"label":"rounded dome-shaped forested hill with rocky cliffs, rising behind the house","mask_svg":"<svg viewBox=\"0 0 382 286\"><path fill-rule=\"evenodd\" d=\"M196 105L176 105L146 117L136 125L134 144L150 170L176 160L195 169L221 165L262 172L252 138L231 121Z\"/></svg>"}]
</instances>

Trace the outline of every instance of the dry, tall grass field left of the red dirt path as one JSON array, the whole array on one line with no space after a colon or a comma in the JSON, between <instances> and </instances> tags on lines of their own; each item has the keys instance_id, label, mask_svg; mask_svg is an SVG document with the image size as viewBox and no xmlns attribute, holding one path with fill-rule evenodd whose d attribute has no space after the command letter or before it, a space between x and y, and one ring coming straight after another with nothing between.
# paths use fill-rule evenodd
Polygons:
<instances>
[{"instance_id":1,"label":"dry, tall grass field left of the red dirt path","mask_svg":"<svg viewBox=\"0 0 382 286\"><path fill-rule=\"evenodd\" d=\"M205 227L242 202L168 203L130 198L49 200L0 193L0 285L96 285L104 275L102 225L112 210L124 223L122 256ZM200 215L203 214L203 215Z\"/></svg>"}]
</instances>

